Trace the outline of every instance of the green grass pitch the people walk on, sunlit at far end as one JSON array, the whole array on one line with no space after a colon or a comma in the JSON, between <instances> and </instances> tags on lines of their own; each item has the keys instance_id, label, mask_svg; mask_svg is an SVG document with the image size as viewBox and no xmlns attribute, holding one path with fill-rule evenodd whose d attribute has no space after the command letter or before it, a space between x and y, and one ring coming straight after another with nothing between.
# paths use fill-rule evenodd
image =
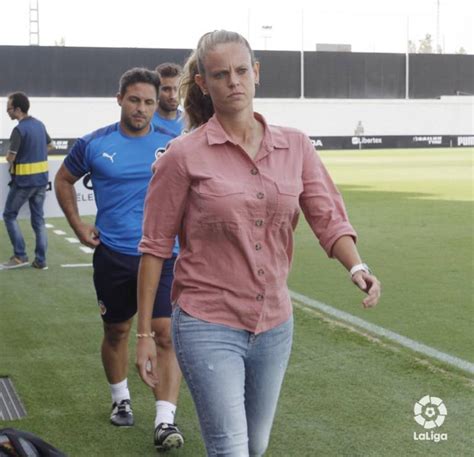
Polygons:
<instances>
[{"instance_id":1,"label":"green grass pitch the people walk on, sunlit at far end","mask_svg":"<svg viewBox=\"0 0 474 457\"><path fill-rule=\"evenodd\" d=\"M329 260L301 219L292 290L473 362L474 150L325 151L359 234L359 250L383 283L381 303L363 310L362 294ZM72 231L62 218L48 220ZM31 229L22 221L28 245ZM100 362L101 322L91 255L49 232L49 270L0 271L0 376L10 376L26 410L1 421L37 433L71 457L153 456L154 402L133 366L136 426L108 424L110 395ZM0 256L11 255L0 227ZM414 440L424 432L414 403L440 397L448 410L436 433L447 441ZM295 339L267 456L469 456L473 377L305 307L295 307ZM185 386L177 422L183 449L204 456Z\"/></svg>"}]
</instances>

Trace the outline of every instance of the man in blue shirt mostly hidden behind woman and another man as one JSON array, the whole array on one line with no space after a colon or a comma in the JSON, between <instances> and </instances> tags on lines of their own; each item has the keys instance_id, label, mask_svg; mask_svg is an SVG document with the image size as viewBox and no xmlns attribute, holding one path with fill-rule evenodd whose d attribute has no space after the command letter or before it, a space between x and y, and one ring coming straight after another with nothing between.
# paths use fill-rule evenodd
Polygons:
<instances>
[{"instance_id":1,"label":"man in blue shirt mostly hidden behind woman and another man","mask_svg":"<svg viewBox=\"0 0 474 457\"><path fill-rule=\"evenodd\" d=\"M179 109L178 102L178 84L183 70L178 64L165 62L158 65L155 71L160 77L161 84L152 122L153 125L177 137L184 129L183 113Z\"/></svg>"}]
</instances>

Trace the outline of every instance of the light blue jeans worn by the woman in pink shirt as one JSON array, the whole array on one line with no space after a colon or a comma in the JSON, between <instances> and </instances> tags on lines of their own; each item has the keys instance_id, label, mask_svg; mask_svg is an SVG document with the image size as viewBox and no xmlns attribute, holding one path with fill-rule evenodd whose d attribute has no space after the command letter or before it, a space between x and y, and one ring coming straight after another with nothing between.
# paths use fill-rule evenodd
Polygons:
<instances>
[{"instance_id":1,"label":"light blue jeans worn by the woman in pink shirt","mask_svg":"<svg viewBox=\"0 0 474 457\"><path fill-rule=\"evenodd\" d=\"M290 357L293 318L255 335L177 307L171 325L208 456L263 455Z\"/></svg>"}]
</instances>

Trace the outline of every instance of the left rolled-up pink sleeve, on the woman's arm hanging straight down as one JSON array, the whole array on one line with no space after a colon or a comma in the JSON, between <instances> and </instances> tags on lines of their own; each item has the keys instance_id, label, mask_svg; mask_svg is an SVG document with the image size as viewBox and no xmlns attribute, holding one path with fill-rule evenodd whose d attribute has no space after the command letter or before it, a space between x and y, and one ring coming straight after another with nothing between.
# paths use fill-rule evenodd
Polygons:
<instances>
[{"instance_id":1,"label":"left rolled-up pink sleeve, on the woman's arm hanging straight down","mask_svg":"<svg viewBox=\"0 0 474 457\"><path fill-rule=\"evenodd\" d=\"M184 154L171 146L153 165L155 173L148 186L140 252L155 257L172 256L181 228L190 180Z\"/></svg>"}]
</instances>

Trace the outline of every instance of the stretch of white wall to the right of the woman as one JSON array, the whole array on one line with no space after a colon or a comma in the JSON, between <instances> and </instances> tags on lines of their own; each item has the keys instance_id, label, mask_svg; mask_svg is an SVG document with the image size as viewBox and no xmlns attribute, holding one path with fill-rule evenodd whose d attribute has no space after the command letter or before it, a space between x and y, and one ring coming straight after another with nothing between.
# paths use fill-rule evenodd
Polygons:
<instances>
[{"instance_id":1,"label":"stretch of white wall to the right of the woman","mask_svg":"<svg viewBox=\"0 0 474 457\"><path fill-rule=\"evenodd\" d=\"M269 100L256 110L273 124L314 136L350 136L359 120L365 135L458 135L474 133L474 97L440 100Z\"/></svg>"}]
</instances>

